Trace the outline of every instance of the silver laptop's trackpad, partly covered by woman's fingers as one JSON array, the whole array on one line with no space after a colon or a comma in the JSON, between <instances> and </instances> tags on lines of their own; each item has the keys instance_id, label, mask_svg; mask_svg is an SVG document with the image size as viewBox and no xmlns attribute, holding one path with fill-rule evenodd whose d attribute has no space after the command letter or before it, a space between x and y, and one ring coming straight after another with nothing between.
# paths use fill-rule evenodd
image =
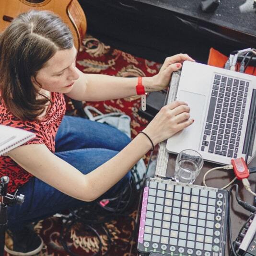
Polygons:
<instances>
[{"instance_id":1,"label":"silver laptop's trackpad, partly covered by woman's fingers","mask_svg":"<svg viewBox=\"0 0 256 256\"><path fill-rule=\"evenodd\" d=\"M190 107L190 118L195 119L193 126L199 125L203 119L205 95L181 90L177 98Z\"/></svg>"}]
</instances>

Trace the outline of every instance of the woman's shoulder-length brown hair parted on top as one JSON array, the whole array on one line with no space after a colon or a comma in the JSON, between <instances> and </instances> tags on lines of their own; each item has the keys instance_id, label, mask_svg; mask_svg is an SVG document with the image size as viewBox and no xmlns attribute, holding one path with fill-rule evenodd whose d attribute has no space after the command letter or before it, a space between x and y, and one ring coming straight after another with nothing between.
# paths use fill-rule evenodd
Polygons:
<instances>
[{"instance_id":1,"label":"woman's shoulder-length brown hair parted on top","mask_svg":"<svg viewBox=\"0 0 256 256\"><path fill-rule=\"evenodd\" d=\"M47 11L20 14L0 35L0 93L14 116L36 120L43 113L50 100L38 97L31 78L58 50L71 47L70 29Z\"/></svg>"}]
</instances>

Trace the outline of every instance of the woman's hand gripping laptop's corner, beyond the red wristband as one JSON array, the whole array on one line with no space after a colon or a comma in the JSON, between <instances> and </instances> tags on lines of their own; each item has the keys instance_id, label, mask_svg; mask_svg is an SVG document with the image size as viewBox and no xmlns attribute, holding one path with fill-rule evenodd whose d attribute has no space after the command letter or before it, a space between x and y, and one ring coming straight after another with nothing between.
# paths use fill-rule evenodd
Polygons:
<instances>
[{"instance_id":1,"label":"woman's hand gripping laptop's corner, beyond the red wristband","mask_svg":"<svg viewBox=\"0 0 256 256\"><path fill-rule=\"evenodd\" d=\"M187 54L182 53L166 58L163 62L163 66L161 67L159 73L151 77L151 85L146 86L146 92L160 91L165 89L169 85L172 73L174 71L181 69L182 63L185 60L195 61L193 58L190 58Z\"/></svg>"}]
</instances>

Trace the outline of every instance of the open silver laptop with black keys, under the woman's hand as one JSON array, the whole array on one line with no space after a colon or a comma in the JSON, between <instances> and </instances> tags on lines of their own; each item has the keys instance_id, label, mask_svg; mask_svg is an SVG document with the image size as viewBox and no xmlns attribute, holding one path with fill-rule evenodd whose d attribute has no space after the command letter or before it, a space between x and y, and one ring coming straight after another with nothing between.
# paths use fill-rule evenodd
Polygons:
<instances>
[{"instance_id":1,"label":"open silver laptop with black keys, under the woman's hand","mask_svg":"<svg viewBox=\"0 0 256 256\"><path fill-rule=\"evenodd\" d=\"M188 104L195 122L167 140L167 151L194 149L204 160L220 164L252 154L255 76L185 61L176 99Z\"/></svg>"}]
</instances>

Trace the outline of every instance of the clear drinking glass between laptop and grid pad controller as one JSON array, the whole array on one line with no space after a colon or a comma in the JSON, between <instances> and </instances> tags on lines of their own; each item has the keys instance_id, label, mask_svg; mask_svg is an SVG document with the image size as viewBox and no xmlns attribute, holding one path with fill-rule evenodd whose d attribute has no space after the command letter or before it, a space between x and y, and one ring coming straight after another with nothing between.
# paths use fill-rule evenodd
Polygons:
<instances>
[{"instance_id":1,"label":"clear drinking glass between laptop and grid pad controller","mask_svg":"<svg viewBox=\"0 0 256 256\"><path fill-rule=\"evenodd\" d=\"M203 158L195 150L184 150L177 155L175 181L193 184L203 167Z\"/></svg>"}]
</instances>

